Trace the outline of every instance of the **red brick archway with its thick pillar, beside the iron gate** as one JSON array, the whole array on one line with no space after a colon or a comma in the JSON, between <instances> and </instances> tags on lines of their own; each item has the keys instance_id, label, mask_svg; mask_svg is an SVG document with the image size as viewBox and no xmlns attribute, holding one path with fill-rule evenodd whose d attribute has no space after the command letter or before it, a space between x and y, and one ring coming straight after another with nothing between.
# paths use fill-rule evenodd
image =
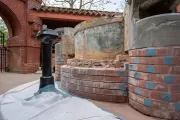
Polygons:
<instances>
[{"instance_id":1,"label":"red brick archway with its thick pillar, beside the iron gate","mask_svg":"<svg viewBox=\"0 0 180 120\"><path fill-rule=\"evenodd\" d=\"M41 21L34 18L29 21L29 7L40 5L36 0L0 0L0 16L9 33L7 42L8 67L10 72L36 72L39 67L40 44L36 33Z\"/></svg>"}]
</instances>

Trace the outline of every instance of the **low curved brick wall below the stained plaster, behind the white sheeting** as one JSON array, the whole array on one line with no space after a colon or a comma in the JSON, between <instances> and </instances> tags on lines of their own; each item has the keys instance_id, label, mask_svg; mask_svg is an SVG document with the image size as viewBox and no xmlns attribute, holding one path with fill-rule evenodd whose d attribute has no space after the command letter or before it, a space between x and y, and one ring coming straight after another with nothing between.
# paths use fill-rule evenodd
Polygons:
<instances>
[{"instance_id":1,"label":"low curved brick wall below the stained plaster, behind the white sheeting","mask_svg":"<svg viewBox=\"0 0 180 120\"><path fill-rule=\"evenodd\" d=\"M128 75L124 69L61 66L61 86L80 97L127 102Z\"/></svg>"}]
</instances>

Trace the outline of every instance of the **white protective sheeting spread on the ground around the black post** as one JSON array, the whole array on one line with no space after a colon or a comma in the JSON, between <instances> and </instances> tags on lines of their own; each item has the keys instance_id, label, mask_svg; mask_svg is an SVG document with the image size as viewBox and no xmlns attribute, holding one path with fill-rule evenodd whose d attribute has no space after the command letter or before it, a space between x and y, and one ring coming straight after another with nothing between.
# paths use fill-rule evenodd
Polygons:
<instances>
[{"instance_id":1,"label":"white protective sheeting spread on the ground around the black post","mask_svg":"<svg viewBox=\"0 0 180 120\"><path fill-rule=\"evenodd\" d=\"M63 97L55 92L33 96L38 91L38 81L18 86L0 96L0 120L119 120L78 97ZM32 99L26 100L30 97Z\"/></svg>"}]
</instances>

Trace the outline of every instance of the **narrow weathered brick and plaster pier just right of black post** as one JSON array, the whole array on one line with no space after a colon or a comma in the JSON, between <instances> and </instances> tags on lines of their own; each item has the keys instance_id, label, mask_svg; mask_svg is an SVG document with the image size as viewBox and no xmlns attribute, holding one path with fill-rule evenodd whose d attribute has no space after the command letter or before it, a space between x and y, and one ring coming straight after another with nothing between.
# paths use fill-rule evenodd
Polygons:
<instances>
[{"instance_id":1,"label":"narrow weathered brick and plaster pier just right of black post","mask_svg":"<svg viewBox=\"0 0 180 120\"><path fill-rule=\"evenodd\" d=\"M60 81L60 66L74 57L74 29L70 27L57 28L61 40L55 45L55 80Z\"/></svg>"}]
</instances>

